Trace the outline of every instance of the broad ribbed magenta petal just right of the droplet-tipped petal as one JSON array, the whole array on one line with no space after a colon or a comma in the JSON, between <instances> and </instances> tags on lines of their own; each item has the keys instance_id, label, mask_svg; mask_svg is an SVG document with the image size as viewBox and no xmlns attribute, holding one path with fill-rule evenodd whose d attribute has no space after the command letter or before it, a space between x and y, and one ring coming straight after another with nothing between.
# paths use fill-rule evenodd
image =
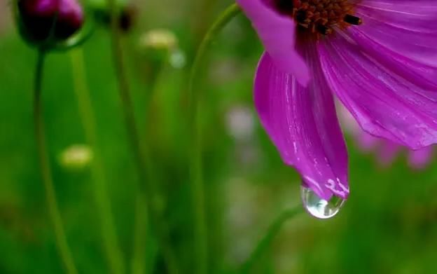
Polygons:
<instances>
[{"instance_id":1,"label":"broad ribbed magenta petal just right of the droplet-tipped petal","mask_svg":"<svg viewBox=\"0 0 437 274\"><path fill-rule=\"evenodd\" d=\"M370 58L345 33L319 43L332 90L366 132L419 149L437 142L437 91L424 89ZM396 57L391 55L391 57Z\"/></svg>"}]
</instances>

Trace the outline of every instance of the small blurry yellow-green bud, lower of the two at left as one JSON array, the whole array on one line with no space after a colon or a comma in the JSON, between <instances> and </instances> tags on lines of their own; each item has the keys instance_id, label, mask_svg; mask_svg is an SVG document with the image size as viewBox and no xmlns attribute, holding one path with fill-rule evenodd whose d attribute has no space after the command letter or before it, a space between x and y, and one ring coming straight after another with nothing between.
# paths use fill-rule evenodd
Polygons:
<instances>
[{"instance_id":1,"label":"small blurry yellow-green bud, lower of the two at left","mask_svg":"<svg viewBox=\"0 0 437 274\"><path fill-rule=\"evenodd\" d=\"M94 158L90 146L74 144L64 149L60 154L60 165L68 170L83 170L88 167Z\"/></svg>"}]
</instances>

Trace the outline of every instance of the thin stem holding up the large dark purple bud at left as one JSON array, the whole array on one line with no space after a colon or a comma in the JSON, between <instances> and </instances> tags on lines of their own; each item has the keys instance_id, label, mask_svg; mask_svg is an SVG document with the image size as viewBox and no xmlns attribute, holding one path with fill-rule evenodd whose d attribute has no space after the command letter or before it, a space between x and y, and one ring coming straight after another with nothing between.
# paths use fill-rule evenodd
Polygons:
<instances>
[{"instance_id":1,"label":"thin stem holding up the large dark purple bud at left","mask_svg":"<svg viewBox=\"0 0 437 274\"><path fill-rule=\"evenodd\" d=\"M35 79L34 79L34 123L36 146L38 148L39 165L41 167L41 176L43 179L44 190L46 191L46 203L48 213L55 230L57 250L60 253L64 268L67 273L76 274L73 256L67 243L67 237L64 232L61 214L57 205L55 187L53 186L52 172L50 170L50 161L46 147L46 136L44 133L43 108L41 104L41 90L43 81L43 67L46 53L39 50L38 60L36 62Z\"/></svg>"}]
</instances>

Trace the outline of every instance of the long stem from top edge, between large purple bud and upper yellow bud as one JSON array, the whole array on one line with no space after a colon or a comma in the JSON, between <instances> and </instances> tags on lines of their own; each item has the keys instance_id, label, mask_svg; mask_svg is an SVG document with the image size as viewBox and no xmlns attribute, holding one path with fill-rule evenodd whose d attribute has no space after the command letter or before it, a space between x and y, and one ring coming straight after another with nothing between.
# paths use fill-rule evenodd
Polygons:
<instances>
[{"instance_id":1,"label":"long stem from top edge, between large purple bud and upper yellow bud","mask_svg":"<svg viewBox=\"0 0 437 274\"><path fill-rule=\"evenodd\" d=\"M144 214L137 214L137 217L146 218L151 217L153 225L155 226L153 232L158 236L160 243L160 249L162 256L165 260L165 264L169 273L178 273L178 267L174 252L169 245L169 231L167 226L164 225L162 221L161 212L159 209L158 196L156 195L156 180L153 173L153 168L151 167L151 158L149 157L149 149L146 144L141 146L139 139L139 133L137 130L137 123L134 116L134 107L132 105L132 100L130 97L130 86L126 78L126 73L124 70L124 60L123 60L123 48L120 39L120 29L118 28L118 11L116 8L115 0L107 0L108 6L111 10L111 40L112 40L112 53L113 62L116 69L116 76L118 80L118 92L120 94L120 99L123 107L123 112L125 116L125 123L127 126L128 137L130 138L130 144L134 152L134 162L137 165L137 171L139 174L139 193L137 199L140 203L137 205L146 205L146 210ZM137 212L141 212L141 208L137 208ZM137 220L137 224L141 220ZM138 226L137 226L138 227ZM144 231L146 233L146 231ZM134 233L135 235L141 235L141 233ZM137 248L134 248L136 251ZM135 255L134 258L139 258L139 254Z\"/></svg>"}]
</instances>

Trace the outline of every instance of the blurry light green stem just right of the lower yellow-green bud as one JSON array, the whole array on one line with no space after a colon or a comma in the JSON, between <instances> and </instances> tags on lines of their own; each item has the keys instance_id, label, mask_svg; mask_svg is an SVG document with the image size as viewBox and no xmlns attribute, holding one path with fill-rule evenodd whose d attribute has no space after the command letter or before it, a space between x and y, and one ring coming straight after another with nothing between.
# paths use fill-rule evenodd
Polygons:
<instances>
[{"instance_id":1,"label":"blurry light green stem just right of the lower yellow-green bud","mask_svg":"<svg viewBox=\"0 0 437 274\"><path fill-rule=\"evenodd\" d=\"M85 130L85 137L94 151L94 159L90 171L94 181L95 200L99 212L98 216L101 221L104 252L106 253L106 259L110 265L111 272L125 273L123 254L118 245L116 228L111 212L111 201L109 200L104 175L104 167L102 158L100 158L101 153L97 146L95 114L92 109L90 90L86 81L85 64L83 60L83 50L71 50L71 66L73 69L74 89L78 98L79 112Z\"/></svg>"}]
</instances>

